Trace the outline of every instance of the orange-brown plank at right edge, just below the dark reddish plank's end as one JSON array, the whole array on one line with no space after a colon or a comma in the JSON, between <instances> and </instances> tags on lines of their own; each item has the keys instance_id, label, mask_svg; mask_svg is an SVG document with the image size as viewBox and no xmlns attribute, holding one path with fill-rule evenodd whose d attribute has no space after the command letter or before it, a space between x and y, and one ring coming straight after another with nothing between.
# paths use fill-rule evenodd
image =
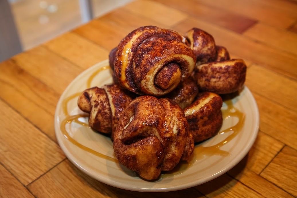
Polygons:
<instances>
[{"instance_id":1,"label":"orange-brown plank at right edge, just below the dark reddish plank's end","mask_svg":"<svg viewBox=\"0 0 297 198\"><path fill-rule=\"evenodd\" d=\"M244 35L268 46L297 55L297 34L293 32L257 23L245 31Z\"/></svg>"}]
</instances>

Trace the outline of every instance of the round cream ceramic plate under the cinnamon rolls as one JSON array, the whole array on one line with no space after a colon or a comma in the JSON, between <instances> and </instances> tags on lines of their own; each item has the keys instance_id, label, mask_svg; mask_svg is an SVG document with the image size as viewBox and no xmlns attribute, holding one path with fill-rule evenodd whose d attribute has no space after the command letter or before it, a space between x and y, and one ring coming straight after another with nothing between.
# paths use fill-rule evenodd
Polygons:
<instances>
[{"instance_id":1,"label":"round cream ceramic plate under the cinnamon rolls","mask_svg":"<svg viewBox=\"0 0 297 198\"><path fill-rule=\"evenodd\" d=\"M66 117L62 107L63 101L67 97L85 90L89 77L99 68L107 65L108 60L102 61L78 75L61 95L56 107L55 131L59 145L68 159L87 175L108 185L132 191L164 192L181 190L205 183L227 172L243 159L252 147L258 132L259 112L255 99L247 87L232 99L233 105L245 114L245 121L238 134L227 144L219 148L222 152L225 151L225 154L229 154L222 155L217 153L214 155L214 153L208 152L201 152L200 154L195 152L190 165L183 164L178 166L175 172L162 174L156 181L142 180L137 174L123 167L118 162L98 157L74 145L64 136L60 129L61 122ZM110 70L105 69L94 75L91 86L100 87L108 83L112 83L112 77ZM226 108L225 103L222 108ZM69 100L67 110L69 115L83 113L77 107L77 97ZM88 122L87 118L80 118L80 121ZM230 117L224 120L222 129L234 126L237 122L238 118ZM109 137L74 122L68 123L65 128L69 136L81 145L115 158L113 145ZM200 145L196 145L195 150L198 151L200 146L208 147L215 145L230 134L232 134L232 131L218 134Z\"/></svg>"}]
</instances>

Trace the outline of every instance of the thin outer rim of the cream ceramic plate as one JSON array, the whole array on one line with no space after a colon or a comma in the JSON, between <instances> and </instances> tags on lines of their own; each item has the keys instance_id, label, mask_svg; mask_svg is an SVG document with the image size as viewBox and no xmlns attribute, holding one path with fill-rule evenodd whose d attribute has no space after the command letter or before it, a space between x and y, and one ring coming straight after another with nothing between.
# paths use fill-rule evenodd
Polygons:
<instances>
[{"instance_id":1,"label":"thin outer rim of the cream ceramic plate","mask_svg":"<svg viewBox=\"0 0 297 198\"><path fill-rule=\"evenodd\" d=\"M232 169L236 164L239 163L239 161L241 161L244 156L247 155L247 153L249 152L249 150L251 149L252 145L254 144L256 138L257 138L257 134L259 132L259 123L260 123L260 115L259 115L259 108L257 105L257 102L255 100L255 97L253 96L252 92L249 90L249 88L247 86L244 85L244 89L246 89L247 93L251 96L251 103L252 105L255 107L255 113L253 114L255 116L255 125L252 127L252 132L254 132L254 135L252 136L252 139L248 142L248 144L244 147L244 149L232 160L232 164L227 166L227 167L223 167L221 171L210 175L202 180L199 180L199 182L197 182L197 180L193 180L189 183L185 183L182 184L180 186L174 186L174 187L169 187L169 188L140 188L140 187L133 187L133 186L122 186L122 183L113 181L109 178L105 178L105 177L99 177L97 174L94 174L91 171L86 170L85 168L83 168L82 166L80 166L80 164L78 162L76 162L73 158L74 156L68 151L68 149L66 148L66 146L62 143L61 137L60 137L60 126L57 126L57 119L59 119L59 106L61 106L62 103L62 99L64 99L65 94L67 93L67 91L70 89L70 87L72 87L72 84L75 83L75 81L77 79L79 79L81 76L85 75L86 73L88 73L90 70L93 70L95 67L103 67L106 64L108 64L108 59L104 60L104 61L100 61L97 64L94 64L92 66L90 66L88 69L85 69L83 72L81 72L78 76L76 76L71 83L69 83L69 85L67 86L67 88L65 88L65 90L63 91L63 93L61 94L59 101L56 105L56 110L55 110L55 115L54 115L54 129L55 129L55 135L56 135L56 139L59 143L60 148L62 149L62 151L64 152L64 154L66 155L66 157L69 159L69 161L72 162L72 164L75 165L75 167L77 167L79 170L81 170L82 172L84 172L86 175L89 175L90 177L108 184L110 186L114 186L120 189L125 189L125 190L130 190L130 191L140 191L140 192L167 192L167 191L177 191L177 190L182 190L182 189L187 189L187 188L191 188L193 186L198 186L200 184L206 183L210 180L213 180L219 176L221 176L222 174L224 174L225 172L227 172L228 170ZM148 181L149 182L149 181Z\"/></svg>"}]
</instances>

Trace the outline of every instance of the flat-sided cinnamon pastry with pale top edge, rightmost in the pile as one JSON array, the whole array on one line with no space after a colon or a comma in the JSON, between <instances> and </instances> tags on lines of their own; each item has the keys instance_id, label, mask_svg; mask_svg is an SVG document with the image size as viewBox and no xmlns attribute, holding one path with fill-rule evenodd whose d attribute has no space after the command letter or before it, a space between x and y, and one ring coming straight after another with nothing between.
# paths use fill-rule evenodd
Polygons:
<instances>
[{"instance_id":1,"label":"flat-sided cinnamon pastry with pale top edge, rightmost in the pile","mask_svg":"<svg viewBox=\"0 0 297 198\"><path fill-rule=\"evenodd\" d=\"M210 62L195 68L198 89L217 94L230 94L244 85L247 66L242 59Z\"/></svg>"}]
</instances>

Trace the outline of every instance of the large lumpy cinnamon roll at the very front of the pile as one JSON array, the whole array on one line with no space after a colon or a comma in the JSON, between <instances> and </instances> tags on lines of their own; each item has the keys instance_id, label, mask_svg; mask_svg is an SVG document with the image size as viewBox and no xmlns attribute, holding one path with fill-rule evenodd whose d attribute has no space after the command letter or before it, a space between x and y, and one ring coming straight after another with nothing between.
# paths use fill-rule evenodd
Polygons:
<instances>
[{"instance_id":1,"label":"large lumpy cinnamon roll at the very front of the pile","mask_svg":"<svg viewBox=\"0 0 297 198\"><path fill-rule=\"evenodd\" d=\"M116 158L147 180L188 160L194 149L183 110L170 99L140 96L124 110L114 135Z\"/></svg>"}]
</instances>

